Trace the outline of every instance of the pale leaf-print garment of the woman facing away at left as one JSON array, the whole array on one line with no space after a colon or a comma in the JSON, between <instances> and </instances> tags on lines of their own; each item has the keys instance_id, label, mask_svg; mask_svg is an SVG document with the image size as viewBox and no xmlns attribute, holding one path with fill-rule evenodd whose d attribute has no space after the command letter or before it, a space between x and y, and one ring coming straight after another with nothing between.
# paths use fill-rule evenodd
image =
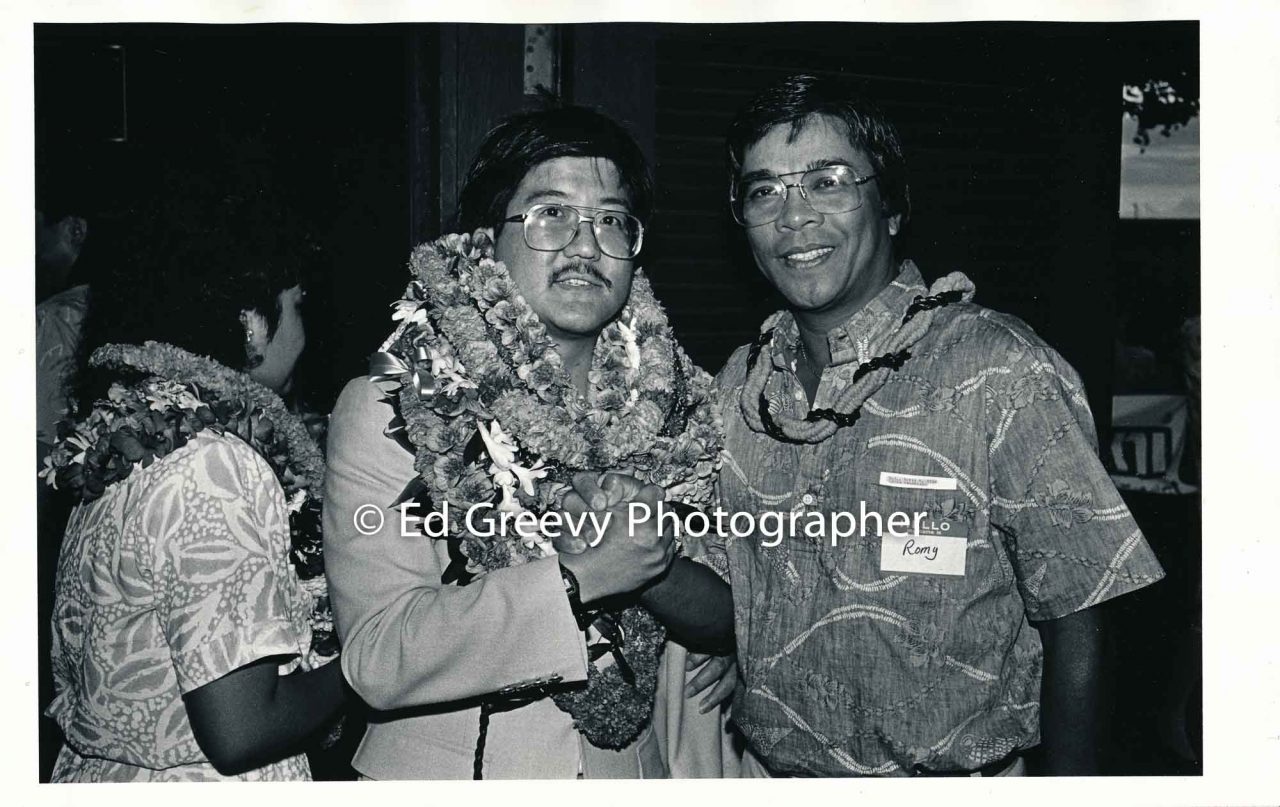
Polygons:
<instances>
[{"instance_id":1,"label":"pale leaf-print garment of the woman facing away at left","mask_svg":"<svg viewBox=\"0 0 1280 807\"><path fill-rule=\"evenodd\" d=\"M47 713L54 781L218 780L182 696L252 661L306 656L307 594L275 474L205 432L72 514L58 560ZM282 671L289 667L282 667ZM294 756L232 779L310 779Z\"/></svg>"}]
</instances>

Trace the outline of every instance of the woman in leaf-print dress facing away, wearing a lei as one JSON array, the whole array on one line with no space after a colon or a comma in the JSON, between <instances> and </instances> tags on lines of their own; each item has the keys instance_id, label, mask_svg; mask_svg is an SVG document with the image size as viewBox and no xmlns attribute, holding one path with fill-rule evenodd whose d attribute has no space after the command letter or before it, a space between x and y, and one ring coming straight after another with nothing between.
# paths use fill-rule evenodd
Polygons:
<instances>
[{"instance_id":1,"label":"woman in leaf-print dress facing away, wearing a lei","mask_svg":"<svg viewBox=\"0 0 1280 807\"><path fill-rule=\"evenodd\" d=\"M41 475L58 564L54 781L310 779L346 689L319 562L324 462L283 403L305 240L253 164L170 174L95 295L79 419Z\"/></svg>"}]
</instances>

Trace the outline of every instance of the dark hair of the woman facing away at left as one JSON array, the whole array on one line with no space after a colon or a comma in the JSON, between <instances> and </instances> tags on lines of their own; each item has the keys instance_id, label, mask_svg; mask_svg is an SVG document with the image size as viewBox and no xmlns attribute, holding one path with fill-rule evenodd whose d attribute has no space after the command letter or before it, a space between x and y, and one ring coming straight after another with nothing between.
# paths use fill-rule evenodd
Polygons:
<instances>
[{"instance_id":1,"label":"dark hair of the woman facing away at left","mask_svg":"<svg viewBox=\"0 0 1280 807\"><path fill-rule=\"evenodd\" d=\"M257 156L219 161L205 152L200 165L170 165L142 191L145 201L122 216L123 260L93 278L84 357L106 343L151 339L246 366L241 311L257 310L274 333L279 293L301 282L315 252Z\"/></svg>"}]
</instances>

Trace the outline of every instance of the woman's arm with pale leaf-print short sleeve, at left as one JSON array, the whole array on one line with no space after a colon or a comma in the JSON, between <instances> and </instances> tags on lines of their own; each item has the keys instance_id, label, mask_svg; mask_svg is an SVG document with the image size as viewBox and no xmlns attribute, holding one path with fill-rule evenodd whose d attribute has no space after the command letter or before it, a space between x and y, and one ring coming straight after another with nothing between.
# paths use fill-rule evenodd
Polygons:
<instances>
[{"instance_id":1,"label":"woman's arm with pale leaf-print short sleeve, at left","mask_svg":"<svg viewBox=\"0 0 1280 807\"><path fill-rule=\"evenodd\" d=\"M342 707L338 665L280 678L306 651L302 592L289 566L284 493L266 462L229 436L165 459L129 519L152 541L155 612L170 675L201 751L239 774L301 751ZM159 664L159 653L146 664ZM138 680L154 680L147 670Z\"/></svg>"}]
</instances>

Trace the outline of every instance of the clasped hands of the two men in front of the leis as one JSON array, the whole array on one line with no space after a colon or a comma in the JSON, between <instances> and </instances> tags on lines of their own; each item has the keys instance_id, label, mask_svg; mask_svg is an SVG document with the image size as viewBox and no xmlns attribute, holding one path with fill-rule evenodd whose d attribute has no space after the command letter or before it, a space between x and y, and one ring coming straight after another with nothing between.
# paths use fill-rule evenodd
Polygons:
<instances>
[{"instance_id":1,"label":"clasped hands of the two men in front of the leis","mask_svg":"<svg viewBox=\"0 0 1280 807\"><path fill-rule=\"evenodd\" d=\"M607 523L599 519L605 529L595 546L589 546L582 533L564 532L554 539L561 565L577 578L582 602L636 591L667 571L676 553L672 537L660 533L657 519L632 524L628 507L631 502L641 502L652 512L664 496L662 488L626 474L573 477L573 489L564 497L566 512L609 515Z\"/></svg>"}]
</instances>

